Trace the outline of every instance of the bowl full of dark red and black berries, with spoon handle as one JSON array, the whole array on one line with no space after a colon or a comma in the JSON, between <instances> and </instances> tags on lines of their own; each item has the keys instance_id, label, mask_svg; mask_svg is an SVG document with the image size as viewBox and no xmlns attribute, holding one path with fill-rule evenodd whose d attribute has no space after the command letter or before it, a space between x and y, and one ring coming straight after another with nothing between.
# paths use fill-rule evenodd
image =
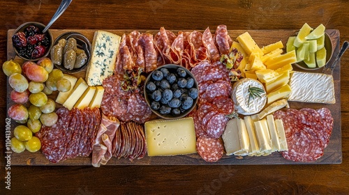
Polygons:
<instances>
[{"instance_id":1,"label":"bowl full of dark red and black berries, with spoon handle","mask_svg":"<svg viewBox=\"0 0 349 195\"><path fill-rule=\"evenodd\" d=\"M15 52L25 61L38 61L50 54L53 36L50 30L43 33L45 25L26 22L20 25L12 36Z\"/></svg>"}]
</instances>

